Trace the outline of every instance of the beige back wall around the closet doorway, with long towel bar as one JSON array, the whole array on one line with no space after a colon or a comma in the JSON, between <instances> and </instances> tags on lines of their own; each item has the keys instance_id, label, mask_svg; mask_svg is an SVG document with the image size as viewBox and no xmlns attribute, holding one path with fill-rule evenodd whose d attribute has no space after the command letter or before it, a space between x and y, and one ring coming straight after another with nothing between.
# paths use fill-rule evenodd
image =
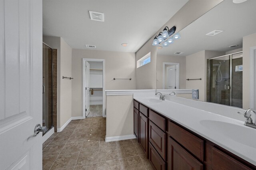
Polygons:
<instances>
[{"instance_id":1,"label":"beige back wall around the closet doorway, with long towel bar","mask_svg":"<svg viewBox=\"0 0 256 170\"><path fill-rule=\"evenodd\" d=\"M105 59L105 90L136 89L135 53L72 49L72 117L82 116L82 58Z\"/></svg>"}]
</instances>

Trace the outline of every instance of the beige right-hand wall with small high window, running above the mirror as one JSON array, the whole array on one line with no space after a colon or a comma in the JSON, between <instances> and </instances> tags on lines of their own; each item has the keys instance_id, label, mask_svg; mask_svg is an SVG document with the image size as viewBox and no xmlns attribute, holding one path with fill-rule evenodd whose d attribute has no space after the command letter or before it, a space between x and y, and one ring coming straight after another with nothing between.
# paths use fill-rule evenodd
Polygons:
<instances>
[{"instance_id":1,"label":"beige right-hand wall with small high window, running above the mirror","mask_svg":"<svg viewBox=\"0 0 256 170\"><path fill-rule=\"evenodd\" d=\"M151 63L136 69L136 89L156 88L156 46L152 45L155 36L162 32L165 26L176 26L179 32L191 22L208 12L223 0L189 0L160 30L156 32L137 52L136 61L151 51Z\"/></svg>"}]
</instances>

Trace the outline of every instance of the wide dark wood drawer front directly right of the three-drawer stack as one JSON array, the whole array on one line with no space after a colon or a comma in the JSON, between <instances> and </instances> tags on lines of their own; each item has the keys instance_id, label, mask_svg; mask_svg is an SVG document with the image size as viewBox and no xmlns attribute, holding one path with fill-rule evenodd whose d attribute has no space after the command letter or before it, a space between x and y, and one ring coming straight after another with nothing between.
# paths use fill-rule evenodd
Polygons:
<instances>
[{"instance_id":1,"label":"wide dark wood drawer front directly right of the three-drawer stack","mask_svg":"<svg viewBox=\"0 0 256 170\"><path fill-rule=\"evenodd\" d=\"M169 135L190 151L199 160L204 161L204 140L169 121Z\"/></svg>"}]
</instances>

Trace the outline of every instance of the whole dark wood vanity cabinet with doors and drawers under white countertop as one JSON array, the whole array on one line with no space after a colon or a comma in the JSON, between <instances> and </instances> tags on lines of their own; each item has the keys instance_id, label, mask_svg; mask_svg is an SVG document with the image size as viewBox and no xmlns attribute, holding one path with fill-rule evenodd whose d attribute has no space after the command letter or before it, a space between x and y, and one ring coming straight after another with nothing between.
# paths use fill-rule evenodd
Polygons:
<instances>
[{"instance_id":1,"label":"whole dark wood vanity cabinet with doors and drawers under white countertop","mask_svg":"<svg viewBox=\"0 0 256 170\"><path fill-rule=\"evenodd\" d=\"M137 101L134 134L156 170L256 170L256 166Z\"/></svg>"}]
</instances>

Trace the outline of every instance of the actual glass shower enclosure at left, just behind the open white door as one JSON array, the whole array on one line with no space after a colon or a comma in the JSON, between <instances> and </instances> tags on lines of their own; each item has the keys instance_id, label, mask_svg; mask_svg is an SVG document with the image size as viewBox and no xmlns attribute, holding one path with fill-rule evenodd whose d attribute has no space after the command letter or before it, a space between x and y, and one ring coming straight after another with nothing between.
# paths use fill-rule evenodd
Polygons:
<instances>
[{"instance_id":1,"label":"actual glass shower enclosure at left, just behind the open white door","mask_svg":"<svg viewBox=\"0 0 256 170\"><path fill-rule=\"evenodd\" d=\"M43 43L43 126L46 131L53 127L52 124L52 49ZM43 133L43 135L44 135Z\"/></svg>"}]
</instances>

